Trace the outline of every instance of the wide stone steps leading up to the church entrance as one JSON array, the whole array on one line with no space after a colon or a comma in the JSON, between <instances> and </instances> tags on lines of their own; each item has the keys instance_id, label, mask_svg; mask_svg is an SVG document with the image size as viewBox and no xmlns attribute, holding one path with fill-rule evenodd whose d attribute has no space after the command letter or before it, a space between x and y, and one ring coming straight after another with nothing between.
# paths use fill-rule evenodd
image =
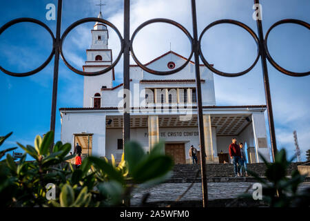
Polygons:
<instances>
[{"instance_id":1,"label":"wide stone steps leading up to the church entrance","mask_svg":"<svg viewBox=\"0 0 310 221\"><path fill-rule=\"evenodd\" d=\"M287 175L289 176L293 170L297 170L299 164L302 163L291 163ZM234 164L207 164L206 169L207 182L256 182L254 177L234 177ZM266 167L263 163L247 164L247 169L254 171L260 177L265 177ZM200 177L199 164L176 164L173 169L172 177L166 182L201 182Z\"/></svg>"}]
</instances>

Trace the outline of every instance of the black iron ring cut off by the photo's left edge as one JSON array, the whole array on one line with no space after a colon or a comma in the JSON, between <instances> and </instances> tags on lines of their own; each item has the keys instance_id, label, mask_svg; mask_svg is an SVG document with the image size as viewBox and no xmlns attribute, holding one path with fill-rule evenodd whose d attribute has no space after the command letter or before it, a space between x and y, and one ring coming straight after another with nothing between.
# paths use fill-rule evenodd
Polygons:
<instances>
[{"instance_id":1,"label":"black iron ring cut off by the photo's left edge","mask_svg":"<svg viewBox=\"0 0 310 221\"><path fill-rule=\"evenodd\" d=\"M48 32L50 33L50 36L52 37L53 46L52 46L52 52L50 52L50 56L48 57L48 59L46 59L44 61L44 63L41 64L41 66L39 66L39 68L36 68L34 70L30 70L30 71L25 72L25 73L14 73L14 72L6 70L5 68L2 68L2 66L0 66L0 70L3 71L3 73L6 73L7 75L11 75L11 76L14 76L14 77L25 77L25 76L30 76L30 75L34 75L35 73L38 73L40 70L45 68L45 66L47 66L48 63L50 63L50 61L52 60L52 57L54 56L54 53L55 53L55 38L54 38L52 30L50 30L50 28L48 28L48 26L46 26L45 23L43 23L42 21L39 21L37 19L19 18L19 19L14 19L12 21L9 21L8 23L6 23L4 26L2 26L0 28L0 35L7 28L10 28L10 26L13 26L16 23L21 23L21 22L37 23L39 26L45 28L45 30L48 30Z\"/></svg>"}]
</instances>

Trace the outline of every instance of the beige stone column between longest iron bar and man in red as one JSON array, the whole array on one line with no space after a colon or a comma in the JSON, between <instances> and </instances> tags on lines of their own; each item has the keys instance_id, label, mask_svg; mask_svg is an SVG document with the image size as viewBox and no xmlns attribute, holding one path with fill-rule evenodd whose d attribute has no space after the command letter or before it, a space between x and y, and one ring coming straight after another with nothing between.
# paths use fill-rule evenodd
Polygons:
<instances>
[{"instance_id":1,"label":"beige stone column between longest iron bar and man in red","mask_svg":"<svg viewBox=\"0 0 310 221\"><path fill-rule=\"evenodd\" d=\"M205 153L207 154L207 162L214 162L213 155L213 140L212 140L212 128L211 128L211 115L203 115L203 129L205 132Z\"/></svg>"}]
</instances>

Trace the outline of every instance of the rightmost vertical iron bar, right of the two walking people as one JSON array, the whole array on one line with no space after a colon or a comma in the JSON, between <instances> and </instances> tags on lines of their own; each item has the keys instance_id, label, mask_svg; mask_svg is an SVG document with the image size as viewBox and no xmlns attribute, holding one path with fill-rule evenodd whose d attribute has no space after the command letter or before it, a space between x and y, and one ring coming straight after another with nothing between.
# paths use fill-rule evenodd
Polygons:
<instances>
[{"instance_id":1,"label":"rightmost vertical iron bar, right of the two walking people","mask_svg":"<svg viewBox=\"0 0 310 221\"><path fill-rule=\"evenodd\" d=\"M254 3L259 4L260 1L254 0ZM261 12L259 12L259 13L261 13ZM274 156L277 153L276 133L274 130L273 112L272 112L270 86L269 86L269 77L268 77L268 69L267 69L267 61L266 61L266 52L265 52L265 48L264 48L264 34L262 32L262 21L259 19L259 17L256 18L256 24L257 24L258 38L259 38L260 60L262 62L262 75L264 77L265 97L266 97L266 104L267 104L270 142L271 142L271 149L273 151L273 162L274 162Z\"/></svg>"}]
</instances>

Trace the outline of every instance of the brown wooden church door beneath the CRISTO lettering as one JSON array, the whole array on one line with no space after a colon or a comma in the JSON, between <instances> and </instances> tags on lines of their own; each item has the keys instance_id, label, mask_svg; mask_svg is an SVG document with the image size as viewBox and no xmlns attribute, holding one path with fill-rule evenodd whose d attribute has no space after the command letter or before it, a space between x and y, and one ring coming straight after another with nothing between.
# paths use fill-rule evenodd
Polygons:
<instances>
[{"instance_id":1,"label":"brown wooden church door beneath the CRISTO lettering","mask_svg":"<svg viewBox=\"0 0 310 221\"><path fill-rule=\"evenodd\" d=\"M165 154L172 157L174 164L186 164L184 144L165 144Z\"/></svg>"}]
</instances>

